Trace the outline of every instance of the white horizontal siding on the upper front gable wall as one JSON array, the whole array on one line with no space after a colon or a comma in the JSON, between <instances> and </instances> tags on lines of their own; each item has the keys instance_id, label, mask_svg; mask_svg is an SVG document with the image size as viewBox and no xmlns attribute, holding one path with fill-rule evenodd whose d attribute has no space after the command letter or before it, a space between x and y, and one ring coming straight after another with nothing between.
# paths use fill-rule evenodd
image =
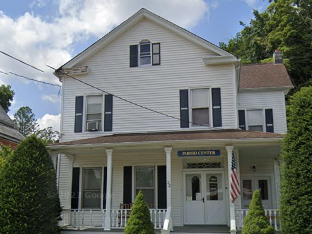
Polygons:
<instances>
[{"instance_id":1,"label":"white horizontal siding on the upper front gable wall","mask_svg":"<svg viewBox=\"0 0 312 234\"><path fill-rule=\"evenodd\" d=\"M129 45L142 39L161 43L161 65L129 67ZM179 90L220 87L223 128L236 127L234 65L205 66L202 59L213 52L152 23L142 20L80 65L89 67L83 81L132 102L180 118ZM74 133L75 96L100 93L71 78L63 79L62 141L105 134ZM113 100L113 133L180 130L177 119Z\"/></svg>"}]
</instances>

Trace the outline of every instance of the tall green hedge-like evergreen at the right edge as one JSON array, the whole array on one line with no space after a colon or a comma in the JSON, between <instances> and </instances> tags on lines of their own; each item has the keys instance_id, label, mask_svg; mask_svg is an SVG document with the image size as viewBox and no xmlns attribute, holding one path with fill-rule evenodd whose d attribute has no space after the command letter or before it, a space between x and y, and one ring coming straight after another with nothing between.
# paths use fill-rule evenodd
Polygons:
<instances>
[{"instance_id":1,"label":"tall green hedge-like evergreen at the right edge","mask_svg":"<svg viewBox=\"0 0 312 234\"><path fill-rule=\"evenodd\" d=\"M312 87L290 98L282 149L281 225L284 234L312 233Z\"/></svg>"}]
</instances>

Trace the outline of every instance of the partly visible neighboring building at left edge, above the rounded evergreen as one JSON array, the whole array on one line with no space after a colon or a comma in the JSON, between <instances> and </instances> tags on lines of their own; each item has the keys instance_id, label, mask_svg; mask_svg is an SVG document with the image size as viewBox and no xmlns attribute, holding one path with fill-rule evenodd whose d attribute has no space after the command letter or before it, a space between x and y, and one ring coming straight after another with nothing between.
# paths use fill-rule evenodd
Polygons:
<instances>
[{"instance_id":1,"label":"partly visible neighboring building at left edge, above the rounded evergreen","mask_svg":"<svg viewBox=\"0 0 312 234\"><path fill-rule=\"evenodd\" d=\"M18 131L16 124L0 106L0 145L15 149L25 137Z\"/></svg>"}]
</instances>

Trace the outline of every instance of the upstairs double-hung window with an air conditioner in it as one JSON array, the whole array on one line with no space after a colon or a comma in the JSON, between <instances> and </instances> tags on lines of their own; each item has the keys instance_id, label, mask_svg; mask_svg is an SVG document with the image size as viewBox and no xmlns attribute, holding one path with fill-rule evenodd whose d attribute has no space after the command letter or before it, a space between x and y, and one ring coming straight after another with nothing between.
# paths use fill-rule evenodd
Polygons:
<instances>
[{"instance_id":1,"label":"upstairs double-hung window with an air conditioner in it","mask_svg":"<svg viewBox=\"0 0 312 234\"><path fill-rule=\"evenodd\" d=\"M87 96L86 99L86 130L101 131L103 119L103 96Z\"/></svg>"}]
</instances>

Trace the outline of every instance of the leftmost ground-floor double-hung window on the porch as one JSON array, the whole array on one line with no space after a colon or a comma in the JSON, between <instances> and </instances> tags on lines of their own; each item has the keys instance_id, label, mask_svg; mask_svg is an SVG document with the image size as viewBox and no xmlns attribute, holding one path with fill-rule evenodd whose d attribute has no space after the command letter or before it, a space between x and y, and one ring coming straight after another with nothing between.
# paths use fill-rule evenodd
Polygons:
<instances>
[{"instance_id":1,"label":"leftmost ground-floor double-hung window on the porch","mask_svg":"<svg viewBox=\"0 0 312 234\"><path fill-rule=\"evenodd\" d=\"M102 168L84 168L82 174L82 208L101 208Z\"/></svg>"}]
</instances>

